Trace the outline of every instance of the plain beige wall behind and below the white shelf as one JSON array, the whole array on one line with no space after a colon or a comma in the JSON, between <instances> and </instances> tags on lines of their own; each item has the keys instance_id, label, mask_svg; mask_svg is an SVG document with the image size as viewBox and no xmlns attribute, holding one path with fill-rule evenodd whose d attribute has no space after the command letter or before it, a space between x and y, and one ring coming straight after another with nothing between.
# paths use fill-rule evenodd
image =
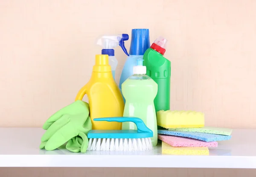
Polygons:
<instances>
[{"instance_id":1,"label":"plain beige wall behind and below the white shelf","mask_svg":"<svg viewBox=\"0 0 256 177\"><path fill-rule=\"evenodd\" d=\"M256 128L255 9L255 0L0 0L0 126L41 127L74 101L90 78L101 49L94 45L96 37L149 28L151 42L159 35L169 39L172 110L203 111L209 126ZM126 56L117 48L116 57L119 80ZM40 170L133 176L130 169L0 169L9 177ZM149 176L145 169L135 170ZM153 173L255 176L253 170Z\"/></svg>"}]
</instances>

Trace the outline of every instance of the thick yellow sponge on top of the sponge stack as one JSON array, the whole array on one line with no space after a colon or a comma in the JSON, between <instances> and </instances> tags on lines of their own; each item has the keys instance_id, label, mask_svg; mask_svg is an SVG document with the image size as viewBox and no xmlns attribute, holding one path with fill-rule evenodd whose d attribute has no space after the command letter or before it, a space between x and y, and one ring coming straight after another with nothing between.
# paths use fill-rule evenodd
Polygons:
<instances>
[{"instance_id":1,"label":"thick yellow sponge on top of the sponge stack","mask_svg":"<svg viewBox=\"0 0 256 177\"><path fill-rule=\"evenodd\" d=\"M170 128L204 127L204 113L196 111L158 111L157 125Z\"/></svg>"}]
</instances>

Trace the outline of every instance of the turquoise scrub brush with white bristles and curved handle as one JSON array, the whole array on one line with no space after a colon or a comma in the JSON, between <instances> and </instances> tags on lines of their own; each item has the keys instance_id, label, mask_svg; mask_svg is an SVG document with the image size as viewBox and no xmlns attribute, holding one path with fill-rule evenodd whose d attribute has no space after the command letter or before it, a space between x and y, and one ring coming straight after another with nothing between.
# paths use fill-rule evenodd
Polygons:
<instances>
[{"instance_id":1,"label":"turquoise scrub brush with white bristles and curved handle","mask_svg":"<svg viewBox=\"0 0 256 177\"><path fill-rule=\"evenodd\" d=\"M133 122L137 130L90 130L88 151L149 151L153 150L153 132L140 118L95 118L94 121Z\"/></svg>"}]
</instances>

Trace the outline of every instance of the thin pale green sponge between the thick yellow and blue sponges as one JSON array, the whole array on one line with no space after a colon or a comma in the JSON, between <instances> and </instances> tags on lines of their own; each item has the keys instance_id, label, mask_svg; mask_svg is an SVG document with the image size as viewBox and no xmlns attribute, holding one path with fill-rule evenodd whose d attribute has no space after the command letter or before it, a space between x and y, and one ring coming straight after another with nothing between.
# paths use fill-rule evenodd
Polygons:
<instances>
[{"instance_id":1,"label":"thin pale green sponge between the thick yellow and blue sponges","mask_svg":"<svg viewBox=\"0 0 256 177\"><path fill-rule=\"evenodd\" d=\"M218 128L205 126L201 128L177 128L177 129L168 129L171 131L183 131L183 132L199 132L199 133L210 133L216 135L231 135L232 129L228 128Z\"/></svg>"}]
</instances>

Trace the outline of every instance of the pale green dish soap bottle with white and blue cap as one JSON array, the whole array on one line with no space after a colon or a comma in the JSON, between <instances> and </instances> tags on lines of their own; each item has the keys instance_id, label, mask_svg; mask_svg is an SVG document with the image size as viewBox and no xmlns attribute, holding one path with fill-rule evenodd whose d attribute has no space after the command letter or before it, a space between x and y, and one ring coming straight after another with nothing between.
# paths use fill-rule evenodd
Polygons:
<instances>
[{"instance_id":1,"label":"pale green dish soap bottle with white and blue cap","mask_svg":"<svg viewBox=\"0 0 256 177\"><path fill-rule=\"evenodd\" d=\"M157 95L157 83L146 75L143 59L137 59L133 75L122 83L122 94L125 98L124 117L138 117L153 131L151 142L157 145L157 116L154 98ZM122 129L136 130L133 122L123 122Z\"/></svg>"}]
</instances>

